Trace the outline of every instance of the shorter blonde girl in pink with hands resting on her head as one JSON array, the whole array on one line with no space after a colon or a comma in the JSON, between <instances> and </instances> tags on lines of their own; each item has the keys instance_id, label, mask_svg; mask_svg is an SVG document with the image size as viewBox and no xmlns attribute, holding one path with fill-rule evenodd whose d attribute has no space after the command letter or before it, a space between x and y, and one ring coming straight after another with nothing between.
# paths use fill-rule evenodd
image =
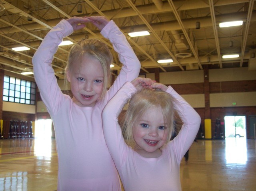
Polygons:
<instances>
[{"instance_id":1,"label":"shorter blonde girl in pink with hands resting on her head","mask_svg":"<svg viewBox=\"0 0 256 191\"><path fill-rule=\"evenodd\" d=\"M124 118L118 121L129 99ZM175 112L183 125L170 141ZM125 191L181 190L180 162L201 118L172 87L144 78L126 82L105 106L102 122Z\"/></svg>"}]
</instances>

